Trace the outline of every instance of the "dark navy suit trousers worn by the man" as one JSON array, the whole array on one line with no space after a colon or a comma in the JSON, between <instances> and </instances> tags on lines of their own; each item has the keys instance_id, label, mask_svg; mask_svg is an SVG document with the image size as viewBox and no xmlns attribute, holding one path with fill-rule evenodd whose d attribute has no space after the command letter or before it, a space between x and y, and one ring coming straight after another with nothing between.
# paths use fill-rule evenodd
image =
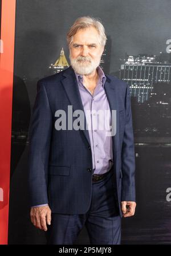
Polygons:
<instances>
[{"instance_id":1,"label":"dark navy suit trousers worn by the man","mask_svg":"<svg viewBox=\"0 0 171 256\"><path fill-rule=\"evenodd\" d=\"M113 170L103 180L92 183L92 199L86 214L52 213L47 243L72 245L83 226L86 226L92 245L119 245L121 218L115 201Z\"/></svg>"}]
</instances>

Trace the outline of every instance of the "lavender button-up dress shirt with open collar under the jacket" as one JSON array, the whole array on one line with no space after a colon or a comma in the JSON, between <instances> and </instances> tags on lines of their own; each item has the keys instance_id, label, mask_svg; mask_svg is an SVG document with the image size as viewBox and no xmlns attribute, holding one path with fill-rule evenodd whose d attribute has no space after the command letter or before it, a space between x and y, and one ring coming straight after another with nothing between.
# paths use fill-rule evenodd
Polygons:
<instances>
[{"instance_id":1,"label":"lavender button-up dress shirt with open collar under the jacket","mask_svg":"<svg viewBox=\"0 0 171 256\"><path fill-rule=\"evenodd\" d=\"M105 125L104 129L100 129L99 125L103 120L111 125L111 111L109 108L107 95L105 94L104 90L106 78L100 66L97 67L97 74L99 76L99 80L92 95L83 84L83 76L75 73L78 81L80 96L82 98L84 112L92 112L92 115L86 115L86 121L88 127L90 128L88 129L88 133L91 143L93 173L103 174L108 172L113 165L112 136L106 136L107 131L109 132L109 130L105 128ZM93 113L93 110L95 110L95 113ZM98 111L100 110L106 111L103 112L105 117L103 120L98 118ZM108 115L105 115L105 113L108 113ZM97 125L95 125L96 120ZM93 129L93 126L96 126L95 129Z\"/></svg>"}]
</instances>

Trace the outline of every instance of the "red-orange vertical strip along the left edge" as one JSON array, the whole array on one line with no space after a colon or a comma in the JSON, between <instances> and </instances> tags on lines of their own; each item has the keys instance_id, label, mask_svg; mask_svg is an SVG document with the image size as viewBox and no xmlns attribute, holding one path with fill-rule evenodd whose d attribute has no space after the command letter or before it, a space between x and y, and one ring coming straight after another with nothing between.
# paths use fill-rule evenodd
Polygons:
<instances>
[{"instance_id":1,"label":"red-orange vertical strip along the left edge","mask_svg":"<svg viewBox=\"0 0 171 256\"><path fill-rule=\"evenodd\" d=\"M2 0L0 58L0 244L7 244L13 100L15 0Z\"/></svg>"}]
</instances>

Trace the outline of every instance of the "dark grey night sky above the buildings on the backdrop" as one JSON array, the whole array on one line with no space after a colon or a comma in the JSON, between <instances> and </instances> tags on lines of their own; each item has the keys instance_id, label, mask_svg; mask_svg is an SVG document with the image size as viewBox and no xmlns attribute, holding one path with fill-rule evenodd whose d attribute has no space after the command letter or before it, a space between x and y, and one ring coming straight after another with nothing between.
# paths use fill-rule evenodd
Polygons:
<instances>
[{"instance_id":1,"label":"dark grey night sky above the buildings on the backdrop","mask_svg":"<svg viewBox=\"0 0 171 256\"><path fill-rule=\"evenodd\" d=\"M66 32L83 15L100 18L111 37L110 72L125 52L158 55L171 38L170 13L170 0L17 0L15 74L46 76L62 46L68 57Z\"/></svg>"}]
</instances>

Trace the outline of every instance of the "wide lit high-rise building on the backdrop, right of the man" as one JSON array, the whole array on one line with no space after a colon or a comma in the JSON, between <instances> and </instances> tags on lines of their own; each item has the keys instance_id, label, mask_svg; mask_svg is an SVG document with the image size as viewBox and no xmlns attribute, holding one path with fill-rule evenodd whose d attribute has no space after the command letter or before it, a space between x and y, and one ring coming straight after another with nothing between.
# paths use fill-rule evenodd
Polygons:
<instances>
[{"instance_id":1,"label":"wide lit high-rise building on the backdrop, right of the man","mask_svg":"<svg viewBox=\"0 0 171 256\"><path fill-rule=\"evenodd\" d=\"M168 61L161 63L156 55L127 55L125 63L121 64L120 79L129 84L131 96L143 103L148 100L154 84L170 83L170 68Z\"/></svg>"}]
</instances>

